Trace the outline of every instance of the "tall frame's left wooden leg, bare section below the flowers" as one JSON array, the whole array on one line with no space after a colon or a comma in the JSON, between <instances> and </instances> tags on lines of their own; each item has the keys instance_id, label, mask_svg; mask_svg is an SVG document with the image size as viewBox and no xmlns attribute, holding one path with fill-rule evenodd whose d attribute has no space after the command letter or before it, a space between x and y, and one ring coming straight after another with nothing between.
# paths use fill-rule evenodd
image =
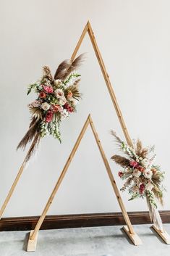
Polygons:
<instances>
[{"instance_id":1,"label":"tall frame's left wooden leg, bare section below the flowers","mask_svg":"<svg viewBox=\"0 0 170 256\"><path fill-rule=\"evenodd\" d=\"M0 210L0 219L1 219L1 216L3 215L3 213L4 213L5 208L7 207L7 204L8 204L8 202L9 202L9 199L12 197L12 194L13 194L13 192L14 192L15 187L17 186L18 181L20 180L20 177L22 176L22 172L23 172L23 170L24 170L24 168L25 168L25 164L26 164L26 162L27 162L27 161L26 161L26 160L27 160L27 156L28 156L28 154L30 154L30 150L31 150L31 148L32 148L32 146L33 146L33 144L34 144L34 142L35 142L35 139L33 140L33 143L31 144L30 149L28 150L28 152L27 152L27 154L26 154L25 160L22 162L22 165L21 165L21 167L20 167L20 170L18 171L17 176L16 176L16 178L14 179L14 183L12 184L12 187L11 187L11 189L9 190L9 193L7 194L7 198L5 199L4 204L3 204L2 207L1 207L1 210Z\"/></svg>"}]
</instances>

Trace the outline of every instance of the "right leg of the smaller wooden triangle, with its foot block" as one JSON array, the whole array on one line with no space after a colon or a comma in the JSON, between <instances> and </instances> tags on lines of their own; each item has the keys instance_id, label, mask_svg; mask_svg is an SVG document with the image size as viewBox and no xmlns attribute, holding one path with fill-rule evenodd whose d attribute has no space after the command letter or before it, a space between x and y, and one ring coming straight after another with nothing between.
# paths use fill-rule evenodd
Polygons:
<instances>
[{"instance_id":1,"label":"right leg of the smaller wooden triangle, with its foot block","mask_svg":"<svg viewBox=\"0 0 170 256\"><path fill-rule=\"evenodd\" d=\"M124 203L122 201L122 198L121 198L121 196L119 194L119 189L116 186L116 181L114 180L114 176L113 176L113 174L111 172L111 168L109 166L109 162L106 159L106 155L105 155L105 153L103 151L103 147L101 146L101 141L98 138L98 133L95 130L95 126L93 125L93 120L92 120L92 118L90 116L89 116L89 120L90 120L90 126L91 126L93 134L95 136L95 141L98 144L98 149L101 152L101 157L103 159L104 165L105 165L107 173L109 175L109 179L111 181L111 185L112 185L112 187L114 189L114 193L116 194L116 199L117 199L117 201L119 203L119 206L120 206L120 208L122 210L122 214L124 216L124 220L127 223L127 226L124 227L124 231L126 231L127 235L129 236L129 239L132 240L133 244L135 244L135 245L143 244L142 241L140 240L139 236L137 236L137 234L135 234L135 231L134 231L134 229L132 227L132 224L131 224L131 222L129 220L129 216L128 216L127 211L126 211L126 209L124 207Z\"/></svg>"}]
</instances>

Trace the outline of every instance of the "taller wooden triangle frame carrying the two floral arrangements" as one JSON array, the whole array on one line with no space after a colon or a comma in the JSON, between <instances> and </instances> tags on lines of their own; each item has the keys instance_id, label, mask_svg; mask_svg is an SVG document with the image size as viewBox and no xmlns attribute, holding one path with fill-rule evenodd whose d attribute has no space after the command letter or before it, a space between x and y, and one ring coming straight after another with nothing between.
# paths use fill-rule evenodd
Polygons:
<instances>
[{"instance_id":1,"label":"taller wooden triangle frame carrying the two floral arrangements","mask_svg":"<svg viewBox=\"0 0 170 256\"><path fill-rule=\"evenodd\" d=\"M90 37L90 41L91 41L91 43L92 43L92 45L93 45L93 49L94 49L94 51L95 51L95 56L97 57L97 59L98 59L98 64L99 64L100 67L101 67L101 72L102 72L103 78L104 78L104 80L105 80L105 82L106 82L106 86L107 86L107 88L108 88L108 90L109 90L109 94L110 94L110 96L111 96L111 101L112 101L113 104L114 104L114 108L115 108L115 110L116 110L116 115L117 115L118 118L119 118L119 123L120 123L120 125L121 125L121 127L122 127L122 131L123 131L123 133L124 133L124 136L125 136L125 138L126 138L126 140L127 140L127 143L128 143L130 146L132 146L132 140L131 140L130 137L129 137L129 133L128 133L128 131L127 131L127 126L126 126L126 124L124 123L124 118L122 117L122 112L121 112L121 110L120 110L120 108L119 108L119 104L118 104L118 102L117 102L117 100L116 100L116 96L115 96L115 94L114 94L113 87L111 86L111 81L110 81L110 79L109 79L109 75L108 75L108 73L106 72L106 67L105 67L105 65L104 65L103 58L101 57L101 52L100 52L99 49L98 49L97 42L95 41L95 36L94 36L93 30L92 30L92 28L91 28L91 25L90 25L90 22L89 22L89 21L87 22L87 24L85 25L84 30L82 31L82 35L80 36L80 39L79 39L79 41L78 41L78 43L77 43L77 46L75 47L75 51L73 52L71 58L72 58L72 59L75 59L76 54L77 54L77 51L80 49L80 46L81 46L81 44L82 44L83 38L85 37L85 34L86 34L86 33L88 33L88 35L89 35L89 37ZM33 143L34 143L34 141L33 141ZM31 146L33 145L33 143L31 144ZM31 149L31 146L30 146L30 149ZM28 150L27 154L29 154L30 149ZM20 167L20 170L18 171L17 176L16 176L16 178L14 179L14 182L12 183L11 189L9 189L9 193L7 194L7 198L4 200L4 204L3 204L2 207L1 207L1 210L0 210L0 219L1 219L1 216L3 215L3 213L4 213L4 210L5 210L6 207L7 207L7 204L8 204L8 202L9 202L9 199L12 197L12 194L13 194L13 192L14 192L15 187L17 186L18 181L20 180L20 177L22 176L23 170L24 170L25 165L26 165L26 159L27 159L27 155L26 155L26 157L25 157L25 160L22 162L22 165L21 165L21 167ZM166 244L169 244L169 243L170 243L169 235L166 233L166 231L162 232L162 231L158 230L155 226L153 226L153 228L155 229L155 231L157 232L157 234L158 234L159 236L161 236L161 238L166 242ZM129 232L129 234L133 234L132 229L127 230L127 232ZM127 233L127 234L128 234L128 233ZM129 235L129 234L128 234L128 235Z\"/></svg>"}]
</instances>

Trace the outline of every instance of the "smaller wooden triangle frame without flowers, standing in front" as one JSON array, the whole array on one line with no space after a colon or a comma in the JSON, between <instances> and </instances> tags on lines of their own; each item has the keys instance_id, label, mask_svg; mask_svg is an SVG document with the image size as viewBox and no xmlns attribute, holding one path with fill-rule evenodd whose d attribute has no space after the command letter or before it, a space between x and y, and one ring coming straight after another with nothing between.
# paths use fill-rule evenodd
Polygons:
<instances>
[{"instance_id":1,"label":"smaller wooden triangle frame without flowers, standing in front","mask_svg":"<svg viewBox=\"0 0 170 256\"><path fill-rule=\"evenodd\" d=\"M135 245L142 244L142 241L140 240L139 236L137 236L137 234L135 234L135 231L134 231L134 229L132 227L132 224L131 224L131 222L129 220L129 216L127 215L127 211L125 210L124 204L122 202L121 195L119 194L119 189L116 186L116 181L114 180L114 176L113 176L113 174L111 172L111 168L109 166L109 162L106 159L106 155L105 155L105 153L103 151L103 147L101 146L101 141L98 138L98 133L95 130L95 126L93 124L93 120L92 120L91 116L88 115L88 118L87 118L87 120L85 121L85 124L82 127L82 131L80 132L80 135L77 138L75 146L73 147L72 152L69 154L67 162L64 165L64 168L63 168L63 170L61 172L61 175L59 176L59 179L56 182L56 186L54 186L54 190L52 191L51 196L49 197L48 202L46 203L46 207L44 208L44 210L43 210L43 212L41 214L41 217L39 218L38 223L35 226L35 229L30 231L30 237L29 237L28 244L27 244L27 252L34 252L35 249L36 249L37 238L38 238L38 231L41 228L43 220L46 217L46 214L48 212L48 209L51 206L51 204L52 204L52 202L54 200L54 197L56 196L56 192L58 191L59 186L61 185L61 182L63 181L63 178L64 178L65 174L67 173L69 165L72 162L73 157L75 156L77 148L80 145L80 142L82 140L82 137L85 134L85 131L88 128L88 125L90 125L90 128L93 131L93 135L95 137L96 144L98 145L98 149L99 149L99 151L101 153L101 157L103 159L103 163L104 163L104 165L106 167L106 171L107 171L107 173L109 175L109 179L111 181L111 186L114 189L114 193L116 195L117 201L119 202L119 206L120 206L120 208L122 210L122 214L124 216L124 220L127 223L127 226L124 226L124 231L127 233L127 235L129 236L129 239L131 239L132 242Z\"/></svg>"}]
</instances>

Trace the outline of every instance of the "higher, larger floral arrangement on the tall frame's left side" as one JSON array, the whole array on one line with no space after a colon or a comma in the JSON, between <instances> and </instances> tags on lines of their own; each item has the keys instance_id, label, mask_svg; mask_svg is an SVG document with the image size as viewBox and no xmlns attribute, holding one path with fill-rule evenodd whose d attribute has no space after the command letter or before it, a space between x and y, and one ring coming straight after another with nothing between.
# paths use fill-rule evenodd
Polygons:
<instances>
[{"instance_id":1,"label":"higher, larger floral arrangement on the tall frame's left side","mask_svg":"<svg viewBox=\"0 0 170 256\"><path fill-rule=\"evenodd\" d=\"M17 149L25 149L27 143L33 140L27 160L42 137L52 135L61 142L61 121L76 112L76 104L80 100L80 74L76 70L82 59L81 54L74 61L69 59L61 62L54 78L49 67L44 66L41 80L28 86L27 95L35 91L37 98L28 104L31 114L29 130L17 146Z\"/></svg>"}]
</instances>

